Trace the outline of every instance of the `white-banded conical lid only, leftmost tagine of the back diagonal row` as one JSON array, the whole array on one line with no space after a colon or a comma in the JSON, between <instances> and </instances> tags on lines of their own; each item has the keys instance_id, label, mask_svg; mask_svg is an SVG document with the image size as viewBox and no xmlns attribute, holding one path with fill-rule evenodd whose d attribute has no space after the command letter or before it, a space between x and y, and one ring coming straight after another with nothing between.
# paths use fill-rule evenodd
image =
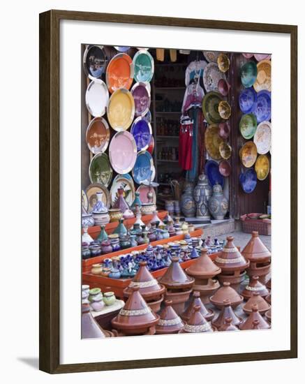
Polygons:
<instances>
[{"instance_id":1,"label":"white-banded conical lid only, leftmost tagine of the back diagonal row","mask_svg":"<svg viewBox=\"0 0 305 384\"><path fill-rule=\"evenodd\" d=\"M145 300L153 299L155 297L158 298L165 291L165 286L159 284L147 269L146 261L140 262L140 268L138 269L137 274L133 277L129 286L124 289L124 295L130 296L133 292L133 287L140 288L139 292Z\"/></svg>"}]
</instances>

